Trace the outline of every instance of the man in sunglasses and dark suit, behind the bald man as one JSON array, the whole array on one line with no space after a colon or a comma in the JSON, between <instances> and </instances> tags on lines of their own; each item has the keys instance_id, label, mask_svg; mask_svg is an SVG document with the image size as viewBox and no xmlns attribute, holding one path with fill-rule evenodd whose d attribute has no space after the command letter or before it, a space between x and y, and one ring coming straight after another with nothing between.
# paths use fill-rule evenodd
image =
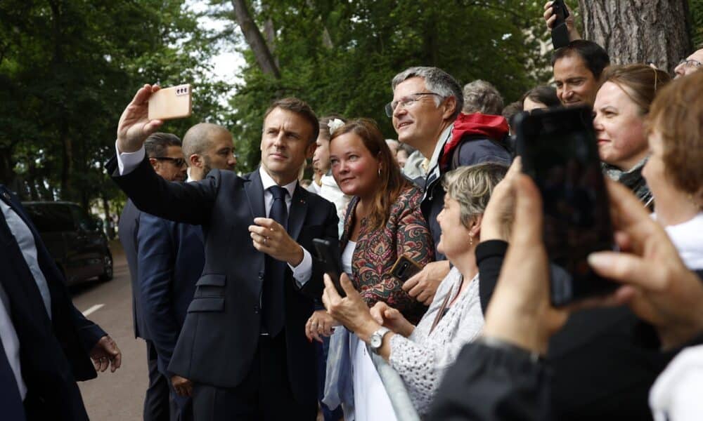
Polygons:
<instances>
[{"instance_id":1,"label":"man in sunglasses and dark suit, behind the bald man","mask_svg":"<svg viewBox=\"0 0 703 421\"><path fill-rule=\"evenodd\" d=\"M171 133L153 133L147 138L146 145L148 145L146 154L155 173L169 181L185 180L186 162L178 136ZM169 420L169 380L158 367L157 347L144 317L141 286L138 282L138 256L143 255L141 253L143 250L139 250L137 243L141 216L142 213L128 199L120 215L120 242L127 256L131 275L134 337L142 338L146 342L149 385L144 396L143 417L145 421L167 421Z\"/></svg>"}]
</instances>

